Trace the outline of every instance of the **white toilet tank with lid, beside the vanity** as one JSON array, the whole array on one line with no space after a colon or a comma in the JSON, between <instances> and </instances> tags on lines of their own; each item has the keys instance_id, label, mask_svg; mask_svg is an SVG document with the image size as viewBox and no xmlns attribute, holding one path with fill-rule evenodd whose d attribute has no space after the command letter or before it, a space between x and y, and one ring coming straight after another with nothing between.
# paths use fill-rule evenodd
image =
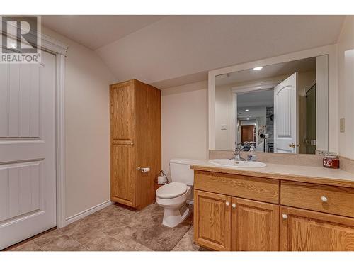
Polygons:
<instances>
[{"instance_id":1,"label":"white toilet tank with lid, beside the vanity","mask_svg":"<svg viewBox=\"0 0 354 266\"><path fill-rule=\"evenodd\" d=\"M194 170L190 169L190 165L197 164L200 160L190 159L171 159L171 179L172 182L181 182L188 186L193 186Z\"/></svg>"}]
</instances>

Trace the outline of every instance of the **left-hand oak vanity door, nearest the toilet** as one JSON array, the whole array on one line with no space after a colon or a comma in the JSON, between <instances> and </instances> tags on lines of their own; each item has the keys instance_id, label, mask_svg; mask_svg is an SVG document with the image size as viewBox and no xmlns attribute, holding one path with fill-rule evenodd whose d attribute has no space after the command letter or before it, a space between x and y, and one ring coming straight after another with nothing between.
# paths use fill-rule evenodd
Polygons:
<instances>
[{"instance_id":1,"label":"left-hand oak vanity door, nearest the toilet","mask_svg":"<svg viewBox=\"0 0 354 266\"><path fill-rule=\"evenodd\" d=\"M195 242L214 250L230 250L231 197L195 190L194 198Z\"/></svg>"}]
</instances>

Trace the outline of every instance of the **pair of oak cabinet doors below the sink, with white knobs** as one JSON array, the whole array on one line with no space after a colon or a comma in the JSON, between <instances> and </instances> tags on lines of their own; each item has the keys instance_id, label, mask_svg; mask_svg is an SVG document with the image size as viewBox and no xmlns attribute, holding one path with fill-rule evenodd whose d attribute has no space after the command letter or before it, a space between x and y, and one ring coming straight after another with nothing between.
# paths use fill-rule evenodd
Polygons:
<instances>
[{"instance_id":1,"label":"pair of oak cabinet doors below the sink, with white knobs","mask_svg":"<svg viewBox=\"0 0 354 266\"><path fill-rule=\"evenodd\" d=\"M279 206L195 190L195 242L220 251L276 251Z\"/></svg>"}]
</instances>

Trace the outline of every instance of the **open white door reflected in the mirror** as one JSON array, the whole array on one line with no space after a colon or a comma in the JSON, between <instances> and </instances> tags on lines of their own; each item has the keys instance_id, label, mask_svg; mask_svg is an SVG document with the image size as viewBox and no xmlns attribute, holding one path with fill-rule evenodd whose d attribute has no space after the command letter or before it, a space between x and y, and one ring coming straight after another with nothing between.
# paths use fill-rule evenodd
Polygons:
<instances>
[{"instance_id":1,"label":"open white door reflected in the mirror","mask_svg":"<svg viewBox=\"0 0 354 266\"><path fill-rule=\"evenodd\" d=\"M274 88L274 152L297 153L297 73Z\"/></svg>"}]
</instances>

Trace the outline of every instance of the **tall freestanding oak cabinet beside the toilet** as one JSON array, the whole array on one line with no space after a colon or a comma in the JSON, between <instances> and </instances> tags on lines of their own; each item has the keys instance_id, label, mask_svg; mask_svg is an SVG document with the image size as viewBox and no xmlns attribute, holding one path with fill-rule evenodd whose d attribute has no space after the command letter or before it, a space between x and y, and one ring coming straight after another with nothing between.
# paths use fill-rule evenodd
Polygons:
<instances>
[{"instance_id":1,"label":"tall freestanding oak cabinet beside the toilet","mask_svg":"<svg viewBox=\"0 0 354 266\"><path fill-rule=\"evenodd\" d=\"M152 204L160 171L161 91L136 79L110 85L110 199Z\"/></svg>"}]
</instances>

